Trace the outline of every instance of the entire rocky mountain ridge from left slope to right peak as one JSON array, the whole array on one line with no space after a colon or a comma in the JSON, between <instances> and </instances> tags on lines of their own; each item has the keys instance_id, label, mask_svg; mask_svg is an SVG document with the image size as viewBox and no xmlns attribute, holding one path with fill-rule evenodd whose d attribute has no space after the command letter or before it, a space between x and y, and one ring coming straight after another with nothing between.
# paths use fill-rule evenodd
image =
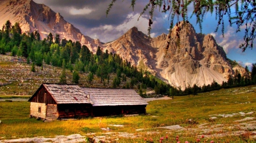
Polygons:
<instances>
[{"instance_id":1,"label":"entire rocky mountain ridge from left slope to right peak","mask_svg":"<svg viewBox=\"0 0 256 143\"><path fill-rule=\"evenodd\" d=\"M42 38L49 32L53 36L57 33L60 38L80 41L93 53L100 46L177 88L184 89L193 84L203 86L213 81L221 84L229 75L234 75L235 68L241 73L244 71L230 65L225 51L213 36L196 33L193 25L183 21L171 29L170 34L152 38L133 27L117 40L102 44L98 39L84 36L59 12L55 13L46 5L32 0L6 0L0 4L2 25L7 20L11 23L18 21L23 32L38 30Z\"/></svg>"}]
</instances>

